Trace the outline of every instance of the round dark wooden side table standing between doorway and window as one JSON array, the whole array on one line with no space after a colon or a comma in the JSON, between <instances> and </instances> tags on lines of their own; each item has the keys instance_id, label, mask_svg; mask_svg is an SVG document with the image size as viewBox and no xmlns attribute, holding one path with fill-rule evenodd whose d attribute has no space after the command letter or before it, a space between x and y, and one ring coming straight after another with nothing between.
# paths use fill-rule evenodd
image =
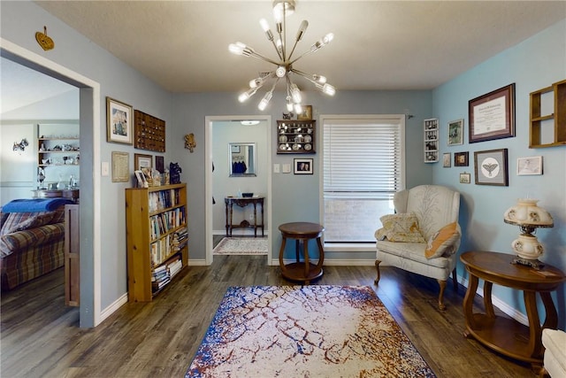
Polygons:
<instances>
[{"instance_id":1,"label":"round dark wooden side table standing between doorway and window","mask_svg":"<svg viewBox=\"0 0 566 378\"><path fill-rule=\"evenodd\" d=\"M325 261L325 251L322 248L320 236L322 236L325 228L317 223L294 222L280 225L279 231L281 231L281 235L283 236L281 248L279 249L279 266L281 266L281 274L283 274L283 277L291 281L304 282L305 285L308 285L311 280L320 277L323 274L322 264ZM296 262L285 265L283 262L283 254L285 253L287 238L295 239ZM317 239L319 253L317 265L310 262L310 239ZM299 256L301 243L304 251L304 261L301 261Z\"/></svg>"}]
</instances>

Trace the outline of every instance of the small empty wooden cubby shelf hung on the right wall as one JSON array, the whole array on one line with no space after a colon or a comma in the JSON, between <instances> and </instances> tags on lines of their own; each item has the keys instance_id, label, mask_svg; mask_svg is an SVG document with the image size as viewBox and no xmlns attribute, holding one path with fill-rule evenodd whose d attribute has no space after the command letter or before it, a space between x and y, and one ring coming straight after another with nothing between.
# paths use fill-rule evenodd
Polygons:
<instances>
[{"instance_id":1,"label":"small empty wooden cubby shelf hung on the right wall","mask_svg":"<svg viewBox=\"0 0 566 378\"><path fill-rule=\"evenodd\" d=\"M545 108L545 96L552 106ZM529 148L566 145L566 80L531 93Z\"/></svg>"}]
</instances>

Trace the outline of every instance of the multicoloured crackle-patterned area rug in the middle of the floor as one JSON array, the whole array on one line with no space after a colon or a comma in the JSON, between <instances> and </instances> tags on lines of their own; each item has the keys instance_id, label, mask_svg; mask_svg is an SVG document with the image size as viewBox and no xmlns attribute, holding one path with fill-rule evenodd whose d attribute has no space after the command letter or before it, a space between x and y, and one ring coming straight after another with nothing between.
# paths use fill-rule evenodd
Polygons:
<instances>
[{"instance_id":1,"label":"multicoloured crackle-patterned area rug in the middle of the floor","mask_svg":"<svg viewBox=\"0 0 566 378\"><path fill-rule=\"evenodd\" d=\"M186 377L435 377L368 286L232 287Z\"/></svg>"}]
</instances>

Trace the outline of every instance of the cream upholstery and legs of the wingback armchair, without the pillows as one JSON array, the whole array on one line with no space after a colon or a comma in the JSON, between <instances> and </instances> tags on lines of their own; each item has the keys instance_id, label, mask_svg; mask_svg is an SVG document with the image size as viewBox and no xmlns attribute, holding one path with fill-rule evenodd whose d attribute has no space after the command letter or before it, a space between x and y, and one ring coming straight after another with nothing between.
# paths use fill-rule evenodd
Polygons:
<instances>
[{"instance_id":1,"label":"cream upholstery and legs of the wingback armchair, without the pillows","mask_svg":"<svg viewBox=\"0 0 566 378\"><path fill-rule=\"evenodd\" d=\"M423 243L399 243L378 240L376 267L383 263L403 270L436 279L440 283L439 307L444 308L443 294L447 278L453 274L455 288L455 266L457 251L460 247L462 231L458 224L460 212L460 193L439 185L421 185L413 189L402 190L394 196L395 212L413 213L418 220L418 228L424 237ZM427 258L427 242L438 236L440 230L455 222L457 236L452 237L450 245L441 244L440 256ZM432 243L432 242L431 242Z\"/></svg>"}]
</instances>

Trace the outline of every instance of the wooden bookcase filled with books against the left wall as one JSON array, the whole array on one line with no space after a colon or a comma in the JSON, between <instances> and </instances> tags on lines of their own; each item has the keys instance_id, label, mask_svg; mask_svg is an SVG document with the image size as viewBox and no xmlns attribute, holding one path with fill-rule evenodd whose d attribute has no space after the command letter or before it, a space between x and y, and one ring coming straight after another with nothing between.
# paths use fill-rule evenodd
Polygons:
<instances>
[{"instance_id":1,"label":"wooden bookcase filled with books against the left wall","mask_svg":"<svg viewBox=\"0 0 566 378\"><path fill-rule=\"evenodd\" d=\"M126 189L126 242L128 300L150 302L187 266L187 184Z\"/></svg>"}]
</instances>

